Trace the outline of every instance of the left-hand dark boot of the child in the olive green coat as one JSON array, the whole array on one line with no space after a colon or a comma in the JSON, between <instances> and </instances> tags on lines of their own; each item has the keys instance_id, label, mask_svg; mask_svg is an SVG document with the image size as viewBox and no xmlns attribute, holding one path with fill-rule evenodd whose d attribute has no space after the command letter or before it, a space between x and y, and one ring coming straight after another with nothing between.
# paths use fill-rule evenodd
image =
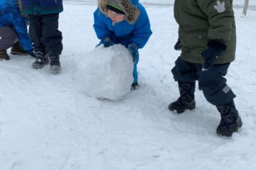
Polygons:
<instances>
[{"instance_id":1,"label":"left-hand dark boot of the child in the olive green coat","mask_svg":"<svg viewBox=\"0 0 256 170\"><path fill-rule=\"evenodd\" d=\"M178 90L180 91L180 97L177 101L170 103L168 108L170 111L176 110L177 113L183 113L186 110L193 110L196 108L195 101L195 82L178 82Z\"/></svg>"}]
</instances>

